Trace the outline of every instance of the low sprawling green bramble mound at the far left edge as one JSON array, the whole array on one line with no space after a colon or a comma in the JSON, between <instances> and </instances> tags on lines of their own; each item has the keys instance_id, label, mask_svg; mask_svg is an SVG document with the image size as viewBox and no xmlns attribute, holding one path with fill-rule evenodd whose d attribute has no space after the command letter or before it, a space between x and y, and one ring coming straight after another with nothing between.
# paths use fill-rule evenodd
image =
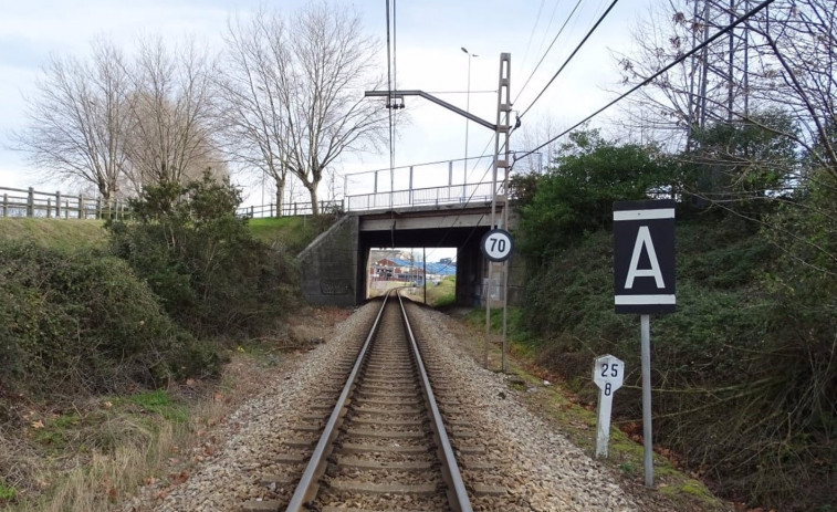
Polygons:
<instances>
[{"instance_id":1,"label":"low sprawling green bramble mound at the far left edge","mask_svg":"<svg viewBox=\"0 0 837 512\"><path fill-rule=\"evenodd\" d=\"M0 242L0 399L218 372L218 357L116 258Z\"/></svg>"}]
</instances>

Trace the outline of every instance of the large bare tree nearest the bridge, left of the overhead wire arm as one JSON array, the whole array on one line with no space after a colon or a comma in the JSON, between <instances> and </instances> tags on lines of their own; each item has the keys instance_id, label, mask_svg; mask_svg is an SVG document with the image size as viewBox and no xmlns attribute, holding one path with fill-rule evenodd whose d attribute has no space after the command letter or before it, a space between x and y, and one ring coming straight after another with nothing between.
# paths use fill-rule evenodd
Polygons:
<instances>
[{"instance_id":1,"label":"large bare tree nearest the bridge, left of the overhead wire arm","mask_svg":"<svg viewBox=\"0 0 837 512\"><path fill-rule=\"evenodd\" d=\"M374 41L357 13L325 2L287 19L262 10L229 32L234 65L233 76L221 81L222 112L242 143L237 156L269 173L278 189L291 171L316 215L325 169L344 153L376 147L386 134L386 113L363 95L374 85ZM233 115L238 122L230 122Z\"/></svg>"}]
</instances>

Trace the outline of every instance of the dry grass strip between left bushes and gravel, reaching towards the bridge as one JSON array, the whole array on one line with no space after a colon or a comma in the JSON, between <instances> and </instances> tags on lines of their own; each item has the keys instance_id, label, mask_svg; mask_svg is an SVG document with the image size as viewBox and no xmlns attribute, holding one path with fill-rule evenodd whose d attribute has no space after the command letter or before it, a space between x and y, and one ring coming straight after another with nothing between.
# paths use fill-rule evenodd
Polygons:
<instances>
[{"instance_id":1,"label":"dry grass strip between left bushes and gravel, reaching towards the bridge","mask_svg":"<svg viewBox=\"0 0 837 512\"><path fill-rule=\"evenodd\" d=\"M320 343L349 314L336 307L307 309L291 320L289 336L300 343ZM123 407L124 399L111 397L87 400L75 409L76 424L84 430L70 432L73 442L67 446L39 445L36 435L43 430L33 429L35 417L28 418L18 431L0 428L0 484L4 479L19 491L17 502L0 499L0 509L106 512L139 485L177 483L188 478L202 458L201 447L213 438L212 427L293 364L295 352L275 349L283 343L275 339L236 351L218 383L190 382L171 387L168 395L177 400L177 412L184 411L186 421L167 419L135 404ZM46 410L41 414L49 416ZM49 428L50 420L44 421ZM86 448L79 450L79 446Z\"/></svg>"}]
</instances>

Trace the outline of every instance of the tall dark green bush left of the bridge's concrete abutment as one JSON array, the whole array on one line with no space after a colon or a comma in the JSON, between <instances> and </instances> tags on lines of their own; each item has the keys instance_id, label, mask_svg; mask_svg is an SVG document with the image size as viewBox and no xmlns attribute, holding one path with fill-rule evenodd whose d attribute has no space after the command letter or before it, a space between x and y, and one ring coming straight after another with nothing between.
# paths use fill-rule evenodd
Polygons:
<instances>
[{"instance_id":1,"label":"tall dark green bush left of the bridge's concrete abutment","mask_svg":"<svg viewBox=\"0 0 837 512\"><path fill-rule=\"evenodd\" d=\"M234 187L207 175L147 187L130 201L137 221L108 226L114 253L197 335L272 326L294 296L290 258L253 238L239 203Z\"/></svg>"}]
</instances>

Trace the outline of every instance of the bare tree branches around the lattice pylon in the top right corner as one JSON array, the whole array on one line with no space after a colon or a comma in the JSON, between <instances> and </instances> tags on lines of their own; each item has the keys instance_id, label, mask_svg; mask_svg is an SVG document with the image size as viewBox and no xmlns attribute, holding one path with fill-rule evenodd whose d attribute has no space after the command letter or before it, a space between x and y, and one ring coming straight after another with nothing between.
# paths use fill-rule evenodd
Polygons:
<instances>
[{"instance_id":1,"label":"bare tree branches around the lattice pylon in the top right corner","mask_svg":"<svg viewBox=\"0 0 837 512\"><path fill-rule=\"evenodd\" d=\"M644 82L753 7L749 0L681 0L658 8L636 31L638 52L619 55L625 82ZM692 129L708 122L762 125L837 176L836 25L833 0L777 0L640 90L629 128L651 125L659 138L688 149ZM776 108L801 129L767 126L753 115Z\"/></svg>"}]
</instances>

